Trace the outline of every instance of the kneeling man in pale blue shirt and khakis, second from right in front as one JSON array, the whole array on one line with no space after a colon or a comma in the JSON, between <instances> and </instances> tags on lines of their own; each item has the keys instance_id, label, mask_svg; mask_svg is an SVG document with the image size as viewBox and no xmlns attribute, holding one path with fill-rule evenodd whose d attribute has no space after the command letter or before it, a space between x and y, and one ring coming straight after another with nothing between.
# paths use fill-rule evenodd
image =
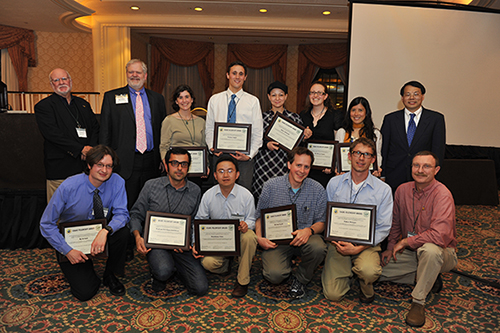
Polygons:
<instances>
[{"instance_id":1,"label":"kneeling man in pale blue shirt and khakis, second from right in front","mask_svg":"<svg viewBox=\"0 0 500 333\"><path fill-rule=\"evenodd\" d=\"M351 171L332 178L326 187L328 201L376 206L375 246L356 245L344 241L328 244L328 253L321 280L323 294L340 301L350 289L353 272L359 278L359 300L371 303L375 299L373 282L382 273L380 243L389 235L392 225L392 192L389 185L370 173L375 162L375 143L359 138L349 147Z\"/></svg>"}]
</instances>

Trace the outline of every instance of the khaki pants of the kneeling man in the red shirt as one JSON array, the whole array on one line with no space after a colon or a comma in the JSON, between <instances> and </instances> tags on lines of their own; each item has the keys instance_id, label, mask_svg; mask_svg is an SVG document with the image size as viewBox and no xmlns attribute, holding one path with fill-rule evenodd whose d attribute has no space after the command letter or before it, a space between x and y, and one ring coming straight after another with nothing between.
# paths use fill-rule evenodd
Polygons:
<instances>
[{"instance_id":1,"label":"khaki pants of the kneeling man in the red shirt","mask_svg":"<svg viewBox=\"0 0 500 333\"><path fill-rule=\"evenodd\" d=\"M431 291L439 273L452 270L457 265L457 254L454 248L443 249L432 243L425 243L416 251L405 249L396 254L397 261L391 258L383 268L379 281L413 284L415 273L417 284L411 296L420 304Z\"/></svg>"}]
</instances>

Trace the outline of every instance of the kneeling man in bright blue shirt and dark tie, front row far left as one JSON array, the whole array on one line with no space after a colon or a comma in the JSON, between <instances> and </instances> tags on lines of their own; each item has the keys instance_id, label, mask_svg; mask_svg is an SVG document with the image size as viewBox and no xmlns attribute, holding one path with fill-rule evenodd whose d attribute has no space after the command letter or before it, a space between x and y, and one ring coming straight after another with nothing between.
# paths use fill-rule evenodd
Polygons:
<instances>
[{"instance_id":1,"label":"kneeling man in bright blue shirt and dark tie, front row far left","mask_svg":"<svg viewBox=\"0 0 500 333\"><path fill-rule=\"evenodd\" d=\"M96 275L92 260L83 252L68 245L59 232L59 223L91 220L103 214L108 224L91 245L91 255L104 252L108 243L108 259L103 274L104 285L113 295L124 295L125 287L115 274L123 275L125 248L127 246L129 220L125 181L113 173L118 164L116 153L109 147L98 145L87 153L86 173L66 179L50 199L40 220L40 231L56 251L68 261L59 266L69 282L71 293L80 301L91 299L99 290L101 280ZM102 207L94 207L94 195L98 193ZM97 211L101 211L100 213Z\"/></svg>"}]
</instances>

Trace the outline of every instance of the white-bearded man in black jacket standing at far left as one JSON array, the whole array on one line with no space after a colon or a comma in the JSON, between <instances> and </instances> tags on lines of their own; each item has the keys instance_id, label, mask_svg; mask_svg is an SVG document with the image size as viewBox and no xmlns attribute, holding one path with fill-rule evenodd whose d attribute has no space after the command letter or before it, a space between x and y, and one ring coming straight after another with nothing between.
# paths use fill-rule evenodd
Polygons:
<instances>
[{"instance_id":1,"label":"white-bearded man in black jacket standing at far left","mask_svg":"<svg viewBox=\"0 0 500 333\"><path fill-rule=\"evenodd\" d=\"M69 73L56 68L49 74L54 93L35 105L38 129L44 140L47 202L61 183L85 169L85 157L99 139L99 123L90 104L73 96Z\"/></svg>"}]
</instances>

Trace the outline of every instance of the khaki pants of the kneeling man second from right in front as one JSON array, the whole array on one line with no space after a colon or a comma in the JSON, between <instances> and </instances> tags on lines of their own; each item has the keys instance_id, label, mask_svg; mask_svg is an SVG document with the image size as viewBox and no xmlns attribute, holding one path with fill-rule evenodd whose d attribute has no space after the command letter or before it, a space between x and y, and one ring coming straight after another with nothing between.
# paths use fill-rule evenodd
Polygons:
<instances>
[{"instance_id":1,"label":"khaki pants of the kneeling man second from right in front","mask_svg":"<svg viewBox=\"0 0 500 333\"><path fill-rule=\"evenodd\" d=\"M380 266L380 246L365 249L354 256L344 256L337 252L335 245L328 244L325 267L321 274L323 294L329 300L338 302L351 288L350 279L355 273L359 278L361 292L367 297L374 295L375 282L382 267Z\"/></svg>"}]
</instances>

